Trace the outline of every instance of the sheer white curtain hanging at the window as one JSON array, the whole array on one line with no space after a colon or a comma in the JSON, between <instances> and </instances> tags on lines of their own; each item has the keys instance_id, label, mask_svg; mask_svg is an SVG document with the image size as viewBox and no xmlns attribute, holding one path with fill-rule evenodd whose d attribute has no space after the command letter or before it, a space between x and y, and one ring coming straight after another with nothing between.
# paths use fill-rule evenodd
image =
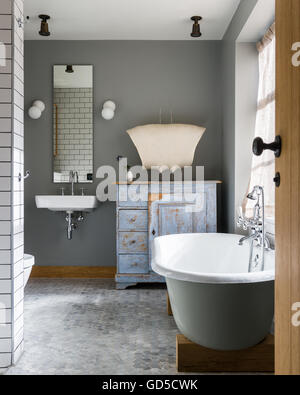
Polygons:
<instances>
[{"instance_id":1,"label":"sheer white curtain hanging at the window","mask_svg":"<svg viewBox=\"0 0 300 395\"><path fill-rule=\"evenodd\" d=\"M275 139L275 24L257 44L259 51L259 89L255 137L271 143ZM275 157L272 151L261 156L253 155L249 191L255 185L265 190L265 212L267 217L275 215ZM251 216L253 202L245 198L243 203L247 216Z\"/></svg>"}]
</instances>

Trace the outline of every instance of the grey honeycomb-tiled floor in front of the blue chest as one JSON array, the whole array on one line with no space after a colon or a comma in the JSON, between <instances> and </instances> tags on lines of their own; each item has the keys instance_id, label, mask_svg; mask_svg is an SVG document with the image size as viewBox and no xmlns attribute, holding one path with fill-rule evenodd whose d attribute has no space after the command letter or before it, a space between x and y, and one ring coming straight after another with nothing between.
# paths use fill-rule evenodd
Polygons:
<instances>
[{"instance_id":1,"label":"grey honeycomb-tiled floor in front of the blue chest","mask_svg":"<svg viewBox=\"0 0 300 395\"><path fill-rule=\"evenodd\" d=\"M176 374L163 285L32 279L25 291L25 352L6 374Z\"/></svg>"}]
</instances>

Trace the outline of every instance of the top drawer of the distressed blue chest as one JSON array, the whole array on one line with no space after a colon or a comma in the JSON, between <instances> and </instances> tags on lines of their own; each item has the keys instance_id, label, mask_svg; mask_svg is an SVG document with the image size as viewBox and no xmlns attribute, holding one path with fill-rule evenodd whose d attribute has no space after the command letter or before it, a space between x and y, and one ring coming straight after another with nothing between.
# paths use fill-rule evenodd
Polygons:
<instances>
[{"instance_id":1,"label":"top drawer of the distressed blue chest","mask_svg":"<svg viewBox=\"0 0 300 395\"><path fill-rule=\"evenodd\" d=\"M148 185L119 185L118 194L119 207L148 206Z\"/></svg>"}]
</instances>

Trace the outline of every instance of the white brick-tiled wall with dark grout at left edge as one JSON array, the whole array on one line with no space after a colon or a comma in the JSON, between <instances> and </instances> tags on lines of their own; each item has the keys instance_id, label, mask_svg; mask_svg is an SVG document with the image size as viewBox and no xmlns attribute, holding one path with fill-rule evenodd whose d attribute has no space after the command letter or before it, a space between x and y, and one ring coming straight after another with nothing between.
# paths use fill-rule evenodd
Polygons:
<instances>
[{"instance_id":1,"label":"white brick-tiled wall with dark grout at left edge","mask_svg":"<svg viewBox=\"0 0 300 395\"><path fill-rule=\"evenodd\" d=\"M23 350L23 0L0 2L0 371Z\"/></svg>"}]
</instances>

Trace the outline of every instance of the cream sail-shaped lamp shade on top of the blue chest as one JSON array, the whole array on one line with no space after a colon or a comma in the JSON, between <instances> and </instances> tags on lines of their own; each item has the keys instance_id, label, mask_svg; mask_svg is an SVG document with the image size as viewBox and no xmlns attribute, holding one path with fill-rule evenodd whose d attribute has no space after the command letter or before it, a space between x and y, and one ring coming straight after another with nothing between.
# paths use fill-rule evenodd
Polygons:
<instances>
[{"instance_id":1,"label":"cream sail-shaped lamp shade on top of the blue chest","mask_svg":"<svg viewBox=\"0 0 300 395\"><path fill-rule=\"evenodd\" d=\"M137 126L127 133L146 169L163 166L171 169L193 164L196 147L205 130L196 125L157 124Z\"/></svg>"}]
</instances>

